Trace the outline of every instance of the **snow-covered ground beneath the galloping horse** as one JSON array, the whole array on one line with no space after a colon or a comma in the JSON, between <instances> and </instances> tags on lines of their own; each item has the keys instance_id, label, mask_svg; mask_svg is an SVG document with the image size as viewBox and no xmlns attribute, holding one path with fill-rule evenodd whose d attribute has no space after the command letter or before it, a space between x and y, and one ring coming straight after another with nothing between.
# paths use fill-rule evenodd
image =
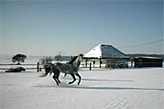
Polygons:
<instances>
[{"instance_id":1,"label":"snow-covered ground beneath the galloping horse","mask_svg":"<svg viewBox=\"0 0 164 109\"><path fill-rule=\"evenodd\" d=\"M43 72L41 72L43 73ZM164 68L81 69L82 82L60 75L0 73L1 109L164 109Z\"/></svg>"}]
</instances>

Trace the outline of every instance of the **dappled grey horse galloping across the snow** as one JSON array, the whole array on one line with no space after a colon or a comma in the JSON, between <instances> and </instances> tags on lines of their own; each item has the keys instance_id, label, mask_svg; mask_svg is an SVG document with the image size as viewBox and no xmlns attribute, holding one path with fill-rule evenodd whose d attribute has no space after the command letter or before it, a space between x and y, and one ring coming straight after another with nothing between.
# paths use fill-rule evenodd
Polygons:
<instances>
[{"instance_id":1,"label":"dappled grey horse galloping across the snow","mask_svg":"<svg viewBox=\"0 0 164 109\"><path fill-rule=\"evenodd\" d=\"M83 59L83 55L80 54L78 56L75 56L70 62L68 63L49 63L44 66L45 72L40 77L45 77L48 73L54 74L53 79L56 81L57 85L59 85L60 80L58 79L60 72L65 74L70 74L73 78L73 81L69 82L69 84L72 84L76 81L75 75L79 78L78 85L81 82L81 76L79 75L79 66Z\"/></svg>"}]
</instances>

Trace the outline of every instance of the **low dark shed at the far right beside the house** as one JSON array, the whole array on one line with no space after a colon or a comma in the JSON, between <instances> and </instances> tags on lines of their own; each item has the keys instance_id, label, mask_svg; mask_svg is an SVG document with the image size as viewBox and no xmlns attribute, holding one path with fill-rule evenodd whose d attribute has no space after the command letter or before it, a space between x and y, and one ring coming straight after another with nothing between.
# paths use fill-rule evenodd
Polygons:
<instances>
[{"instance_id":1,"label":"low dark shed at the far right beside the house","mask_svg":"<svg viewBox=\"0 0 164 109\"><path fill-rule=\"evenodd\" d=\"M162 58L157 57L135 57L134 67L162 67Z\"/></svg>"}]
</instances>

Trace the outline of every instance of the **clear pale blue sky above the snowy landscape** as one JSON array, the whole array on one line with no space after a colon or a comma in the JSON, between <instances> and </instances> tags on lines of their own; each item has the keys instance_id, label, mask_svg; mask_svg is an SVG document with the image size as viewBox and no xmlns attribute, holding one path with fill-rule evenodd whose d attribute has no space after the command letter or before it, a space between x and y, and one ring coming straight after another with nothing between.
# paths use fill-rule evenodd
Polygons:
<instances>
[{"instance_id":1,"label":"clear pale blue sky above the snowy landscape","mask_svg":"<svg viewBox=\"0 0 164 109\"><path fill-rule=\"evenodd\" d=\"M164 53L163 1L1 1L1 54L77 55L98 44Z\"/></svg>"}]
</instances>

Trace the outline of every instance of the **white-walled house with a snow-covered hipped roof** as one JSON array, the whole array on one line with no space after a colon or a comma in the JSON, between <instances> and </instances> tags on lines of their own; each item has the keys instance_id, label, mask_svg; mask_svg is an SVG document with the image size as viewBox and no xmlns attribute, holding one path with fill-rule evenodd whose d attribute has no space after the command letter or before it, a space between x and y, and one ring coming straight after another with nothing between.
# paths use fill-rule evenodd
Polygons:
<instances>
[{"instance_id":1,"label":"white-walled house with a snow-covered hipped roof","mask_svg":"<svg viewBox=\"0 0 164 109\"><path fill-rule=\"evenodd\" d=\"M88 63L93 67L127 67L129 56L119 51L112 45L99 44L88 51L84 58L86 59L86 67Z\"/></svg>"}]
</instances>

